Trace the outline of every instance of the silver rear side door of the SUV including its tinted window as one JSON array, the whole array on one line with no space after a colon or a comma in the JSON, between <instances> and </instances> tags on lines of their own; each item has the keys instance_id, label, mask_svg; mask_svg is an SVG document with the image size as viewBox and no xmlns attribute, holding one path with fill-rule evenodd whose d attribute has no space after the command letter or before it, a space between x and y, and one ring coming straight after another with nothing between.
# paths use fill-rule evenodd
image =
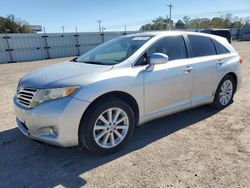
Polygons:
<instances>
[{"instance_id":1,"label":"silver rear side door of the SUV including its tinted window","mask_svg":"<svg viewBox=\"0 0 250 188\"><path fill-rule=\"evenodd\" d=\"M223 59L219 59L215 45L209 37L188 35L195 69L191 102L196 105L211 100L217 88L220 74L218 72Z\"/></svg>"}]
</instances>

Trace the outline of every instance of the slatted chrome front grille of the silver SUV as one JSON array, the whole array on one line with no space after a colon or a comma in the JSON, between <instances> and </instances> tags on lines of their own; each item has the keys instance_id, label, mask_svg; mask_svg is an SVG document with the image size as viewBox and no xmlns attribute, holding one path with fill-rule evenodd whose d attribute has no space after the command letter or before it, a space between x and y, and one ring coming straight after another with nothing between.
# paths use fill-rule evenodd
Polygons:
<instances>
[{"instance_id":1,"label":"slatted chrome front grille of the silver SUV","mask_svg":"<svg viewBox=\"0 0 250 188\"><path fill-rule=\"evenodd\" d=\"M25 107L30 108L33 97L35 96L37 89L32 88L20 88L17 91L17 102Z\"/></svg>"}]
</instances>

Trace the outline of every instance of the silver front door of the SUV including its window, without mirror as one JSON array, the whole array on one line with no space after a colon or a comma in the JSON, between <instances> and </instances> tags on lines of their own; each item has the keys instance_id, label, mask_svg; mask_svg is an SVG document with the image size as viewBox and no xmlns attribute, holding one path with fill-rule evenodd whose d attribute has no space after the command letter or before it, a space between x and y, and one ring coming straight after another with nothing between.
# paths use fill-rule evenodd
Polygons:
<instances>
[{"instance_id":1,"label":"silver front door of the SUV including its window, without mirror","mask_svg":"<svg viewBox=\"0 0 250 188\"><path fill-rule=\"evenodd\" d=\"M169 61L144 72L145 115L164 115L190 107L194 67L187 59L183 37L160 39L147 51L148 60L153 53L164 53Z\"/></svg>"}]
</instances>

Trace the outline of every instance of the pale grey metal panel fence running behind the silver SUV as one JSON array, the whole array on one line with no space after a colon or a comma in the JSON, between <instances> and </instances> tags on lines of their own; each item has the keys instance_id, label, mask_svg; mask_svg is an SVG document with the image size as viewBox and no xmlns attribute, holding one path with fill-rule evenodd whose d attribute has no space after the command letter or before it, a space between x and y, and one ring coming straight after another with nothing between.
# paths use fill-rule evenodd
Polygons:
<instances>
[{"instance_id":1,"label":"pale grey metal panel fence running behind the silver SUV","mask_svg":"<svg viewBox=\"0 0 250 188\"><path fill-rule=\"evenodd\" d=\"M231 29L233 39L249 40L249 28ZM193 30L197 31L197 30ZM81 55L113 38L136 32L0 34L0 63Z\"/></svg>"}]
</instances>

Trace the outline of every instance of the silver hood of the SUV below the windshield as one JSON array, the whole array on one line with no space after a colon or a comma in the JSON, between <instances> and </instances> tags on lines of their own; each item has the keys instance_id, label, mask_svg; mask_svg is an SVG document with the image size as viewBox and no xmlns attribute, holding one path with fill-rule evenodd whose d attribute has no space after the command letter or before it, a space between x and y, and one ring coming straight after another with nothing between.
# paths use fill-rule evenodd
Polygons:
<instances>
[{"instance_id":1,"label":"silver hood of the SUV below the windshield","mask_svg":"<svg viewBox=\"0 0 250 188\"><path fill-rule=\"evenodd\" d=\"M37 69L21 79L20 84L32 88L56 88L83 85L97 75L112 69L111 65L64 62Z\"/></svg>"}]
</instances>

